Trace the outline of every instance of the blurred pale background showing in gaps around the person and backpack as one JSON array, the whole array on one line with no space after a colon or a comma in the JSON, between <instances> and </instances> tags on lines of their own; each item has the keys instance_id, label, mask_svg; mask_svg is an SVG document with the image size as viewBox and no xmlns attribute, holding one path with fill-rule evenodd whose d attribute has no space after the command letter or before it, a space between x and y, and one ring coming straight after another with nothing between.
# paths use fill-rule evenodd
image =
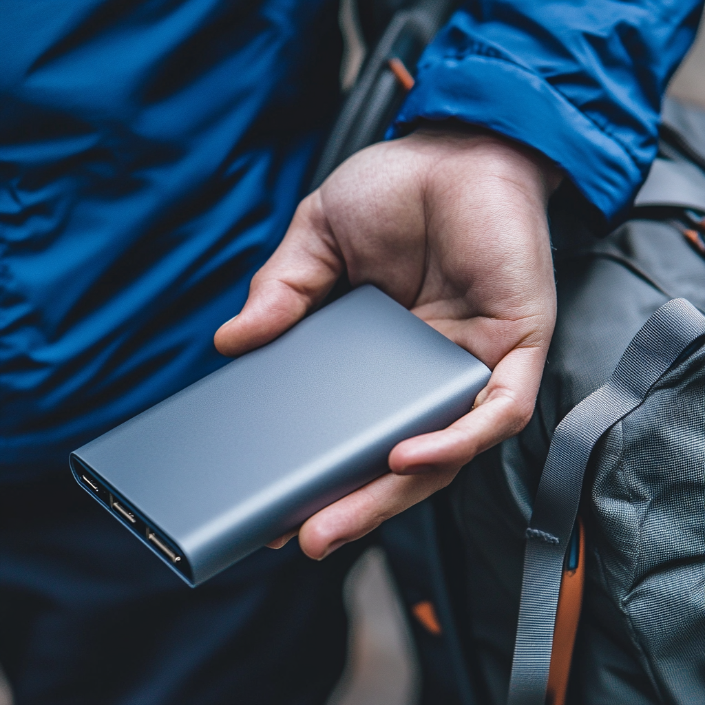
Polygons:
<instances>
[{"instance_id":1,"label":"blurred pale background showing in gaps around the person and backpack","mask_svg":"<svg viewBox=\"0 0 705 705\"><path fill-rule=\"evenodd\" d=\"M341 1L340 21L345 37L341 85L347 90L355 82L366 51L355 0ZM705 109L704 23L668 92ZM369 548L350 570L345 603L350 617L348 663L328 705L415 705L420 678L417 658L381 548ZM1 670L0 705L12 705Z\"/></svg>"}]
</instances>

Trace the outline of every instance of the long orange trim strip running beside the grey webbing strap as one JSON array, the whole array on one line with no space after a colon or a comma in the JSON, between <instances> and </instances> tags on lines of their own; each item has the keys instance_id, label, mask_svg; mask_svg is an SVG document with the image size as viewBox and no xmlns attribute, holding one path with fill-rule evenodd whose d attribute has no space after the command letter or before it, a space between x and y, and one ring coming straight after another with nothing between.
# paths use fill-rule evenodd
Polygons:
<instances>
[{"instance_id":1,"label":"long orange trim strip running beside the grey webbing strap","mask_svg":"<svg viewBox=\"0 0 705 705\"><path fill-rule=\"evenodd\" d=\"M582 608L582 590L585 582L585 529L582 519L578 517L580 531L580 548L575 570L563 571L558 594L558 611L556 627L553 628L553 649L551 651L551 670L548 673L546 705L564 705L565 694L570 678L570 663L575 646L577 624Z\"/></svg>"}]
</instances>

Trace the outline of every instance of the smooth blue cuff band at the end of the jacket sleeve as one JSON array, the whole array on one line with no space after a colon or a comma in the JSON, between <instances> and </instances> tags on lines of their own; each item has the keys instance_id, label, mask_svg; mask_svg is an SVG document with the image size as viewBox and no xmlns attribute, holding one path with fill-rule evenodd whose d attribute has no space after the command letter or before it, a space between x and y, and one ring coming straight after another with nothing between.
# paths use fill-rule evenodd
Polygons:
<instances>
[{"instance_id":1,"label":"smooth blue cuff band at the end of the jacket sleeve","mask_svg":"<svg viewBox=\"0 0 705 705\"><path fill-rule=\"evenodd\" d=\"M623 218L644 178L620 142L539 75L501 57L422 59L387 136L410 132L420 118L456 118L534 147L563 168L606 224Z\"/></svg>"}]
</instances>

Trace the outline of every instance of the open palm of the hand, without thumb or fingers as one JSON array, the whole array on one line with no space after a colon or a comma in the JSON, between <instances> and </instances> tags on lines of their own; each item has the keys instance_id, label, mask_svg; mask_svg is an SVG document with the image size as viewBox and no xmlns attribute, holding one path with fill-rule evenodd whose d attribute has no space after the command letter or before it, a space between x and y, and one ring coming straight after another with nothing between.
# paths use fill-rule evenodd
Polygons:
<instances>
[{"instance_id":1,"label":"open palm of the hand, without thumb or fingers","mask_svg":"<svg viewBox=\"0 0 705 705\"><path fill-rule=\"evenodd\" d=\"M543 204L531 212L530 195L501 173L513 164L467 174L457 138L441 154L435 139L358 154L322 188L321 210L354 286L376 284L494 367L517 345L550 337Z\"/></svg>"}]
</instances>

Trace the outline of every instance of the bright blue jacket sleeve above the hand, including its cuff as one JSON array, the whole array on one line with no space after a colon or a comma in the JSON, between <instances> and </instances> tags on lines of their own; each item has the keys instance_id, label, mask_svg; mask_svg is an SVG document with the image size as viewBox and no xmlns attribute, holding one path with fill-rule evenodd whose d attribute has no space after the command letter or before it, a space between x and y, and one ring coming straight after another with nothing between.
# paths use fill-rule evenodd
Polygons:
<instances>
[{"instance_id":1,"label":"bright blue jacket sleeve above the hand, including its cuff","mask_svg":"<svg viewBox=\"0 0 705 705\"><path fill-rule=\"evenodd\" d=\"M419 62L395 123L458 118L556 161L608 223L656 156L658 113L701 0L473 0Z\"/></svg>"}]
</instances>

